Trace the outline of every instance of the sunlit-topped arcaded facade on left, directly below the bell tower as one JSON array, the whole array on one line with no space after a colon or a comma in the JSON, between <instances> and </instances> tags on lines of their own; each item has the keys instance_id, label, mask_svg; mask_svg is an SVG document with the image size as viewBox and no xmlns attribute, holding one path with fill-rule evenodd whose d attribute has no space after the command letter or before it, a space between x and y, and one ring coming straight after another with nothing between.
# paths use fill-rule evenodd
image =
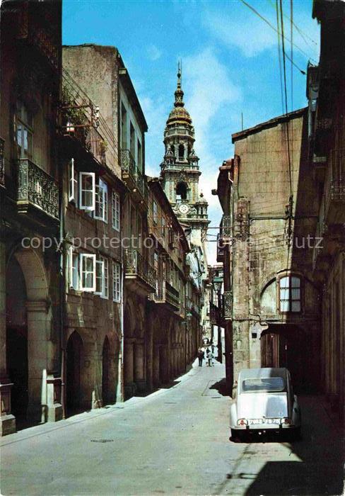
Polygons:
<instances>
[{"instance_id":1,"label":"sunlit-topped arcaded facade on left, directly below the bell tower","mask_svg":"<svg viewBox=\"0 0 345 496\"><path fill-rule=\"evenodd\" d=\"M148 179L148 198L151 264L156 274L156 291L148 303L148 363L152 362L148 382L157 387L183 373L197 355L200 293L189 276L185 232L159 179Z\"/></svg>"}]
</instances>

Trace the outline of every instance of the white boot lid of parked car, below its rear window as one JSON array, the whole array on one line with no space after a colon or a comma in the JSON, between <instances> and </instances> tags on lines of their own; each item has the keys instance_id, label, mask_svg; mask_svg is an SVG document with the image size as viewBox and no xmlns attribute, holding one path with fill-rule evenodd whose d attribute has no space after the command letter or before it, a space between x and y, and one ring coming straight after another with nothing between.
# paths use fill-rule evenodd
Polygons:
<instances>
[{"instance_id":1,"label":"white boot lid of parked car, below its rear window","mask_svg":"<svg viewBox=\"0 0 345 496\"><path fill-rule=\"evenodd\" d=\"M238 419L288 417L286 393L245 393L237 400Z\"/></svg>"}]
</instances>

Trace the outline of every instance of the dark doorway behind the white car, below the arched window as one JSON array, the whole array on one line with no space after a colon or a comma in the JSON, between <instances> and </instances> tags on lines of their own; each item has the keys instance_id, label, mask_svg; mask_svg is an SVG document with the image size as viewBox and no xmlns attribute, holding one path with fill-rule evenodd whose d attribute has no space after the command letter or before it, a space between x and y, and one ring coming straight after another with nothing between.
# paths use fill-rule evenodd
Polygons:
<instances>
[{"instance_id":1,"label":"dark doorway behind the white car, below the arched window","mask_svg":"<svg viewBox=\"0 0 345 496\"><path fill-rule=\"evenodd\" d=\"M261 366L286 367L296 389L305 388L305 334L296 325L269 325L261 336Z\"/></svg>"}]
</instances>

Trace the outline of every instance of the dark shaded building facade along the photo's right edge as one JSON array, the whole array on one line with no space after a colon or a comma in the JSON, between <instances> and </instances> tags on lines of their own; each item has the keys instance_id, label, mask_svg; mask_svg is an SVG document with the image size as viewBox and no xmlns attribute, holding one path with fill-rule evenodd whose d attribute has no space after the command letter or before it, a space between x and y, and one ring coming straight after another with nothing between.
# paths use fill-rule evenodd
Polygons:
<instances>
[{"instance_id":1,"label":"dark shaded building facade along the photo's right edge","mask_svg":"<svg viewBox=\"0 0 345 496\"><path fill-rule=\"evenodd\" d=\"M322 286L322 390L345 418L345 5L317 0L320 62L308 67L310 171L317 183L317 227L312 254Z\"/></svg>"}]
</instances>

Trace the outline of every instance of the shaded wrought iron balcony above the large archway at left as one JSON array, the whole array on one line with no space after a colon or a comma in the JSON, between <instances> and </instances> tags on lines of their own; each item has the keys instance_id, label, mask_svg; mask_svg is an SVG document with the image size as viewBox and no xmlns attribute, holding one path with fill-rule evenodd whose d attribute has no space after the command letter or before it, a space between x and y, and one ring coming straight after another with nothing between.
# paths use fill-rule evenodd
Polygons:
<instances>
[{"instance_id":1,"label":"shaded wrought iron balcony above the large archway at left","mask_svg":"<svg viewBox=\"0 0 345 496\"><path fill-rule=\"evenodd\" d=\"M59 219L59 188L52 176L28 159L18 160L18 212L30 208Z\"/></svg>"}]
</instances>

